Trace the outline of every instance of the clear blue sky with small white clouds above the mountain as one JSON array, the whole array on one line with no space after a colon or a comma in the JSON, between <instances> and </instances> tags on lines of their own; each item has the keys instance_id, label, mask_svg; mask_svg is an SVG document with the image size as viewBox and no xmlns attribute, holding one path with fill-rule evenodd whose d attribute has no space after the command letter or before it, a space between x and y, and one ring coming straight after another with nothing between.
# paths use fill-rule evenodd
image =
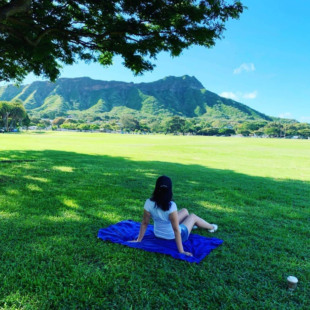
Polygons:
<instances>
[{"instance_id":1,"label":"clear blue sky with small white clouds above the mountain","mask_svg":"<svg viewBox=\"0 0 310 310\"><path fill-rule=\"evenodd\" d=\"M61 77L151 82L165 76L195 76L209 91L237 100L271 116L310 122L309 18L302 1L241 2L248 7L240 20L226 24L225 38L213 49L192 47L178 58L157 57L152 73L134 77L115 58L104 69L83 63L65 67ZM30 75L24 81L38 80Z\"/></svg>"}]
</instances>

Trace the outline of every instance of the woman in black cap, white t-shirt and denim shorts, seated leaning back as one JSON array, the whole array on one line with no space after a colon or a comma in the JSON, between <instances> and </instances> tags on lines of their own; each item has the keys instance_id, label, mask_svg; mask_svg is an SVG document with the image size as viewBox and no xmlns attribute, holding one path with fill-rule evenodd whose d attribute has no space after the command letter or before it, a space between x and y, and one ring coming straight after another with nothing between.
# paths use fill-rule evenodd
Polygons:
<instances>
[{"instance_id":1,"label":"woman in black cap, white t-shirt and denim shorts, seated leaning back","mask_svg":"<svg viewBox=\"0 0 310 310\"><path fill-rule=\"evenodd\" d=\"M144 236L149 220L154 220L154 234L158 238L175 239L180 253L193 256L192 253L183 250L182 242L188 239L193 226L208 229L215 232L217 225L209 224L195 214L188 214L186 209L179 212L172 199L172 182L166 175L162 175L156 181L154 193L144 204L143 219L137 240L140 242Z\"/></svg>"}]
</instances>

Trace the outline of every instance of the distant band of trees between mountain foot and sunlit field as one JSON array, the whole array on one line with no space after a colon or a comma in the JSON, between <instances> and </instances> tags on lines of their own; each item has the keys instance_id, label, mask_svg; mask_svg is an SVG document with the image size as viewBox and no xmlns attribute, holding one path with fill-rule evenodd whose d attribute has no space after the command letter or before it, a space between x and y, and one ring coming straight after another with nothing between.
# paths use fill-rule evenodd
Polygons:
<instances>
[{"instance_id":1,"label":"distant band of trees between mountain foot and sunlit field","mask_svg":"<svg viewBox=\"0 0 310 310\"><path fill-rule=\"evenodd\" d=\"M56 117L54 120L30 117L29 125L73 130L98 130L104 128L111 131L145 132L145 133L172 133L174 135L242 135L242 136L267 136L280 138L287 136L310 136L310 124L299 123L294 120L283 121L229 121L215 119L206 121L201 118L184 118L180 116L158 119L156 117L138 119L134 114L124 113L120 117L104 115L87 116L83 118Z\"/></svg>"}]
</instances>

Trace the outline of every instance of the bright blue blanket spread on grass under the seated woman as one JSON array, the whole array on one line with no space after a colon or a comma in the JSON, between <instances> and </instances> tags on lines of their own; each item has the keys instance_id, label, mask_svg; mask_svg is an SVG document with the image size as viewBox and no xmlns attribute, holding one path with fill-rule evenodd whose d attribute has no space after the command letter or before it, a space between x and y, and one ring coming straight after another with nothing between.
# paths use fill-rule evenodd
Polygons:
<instances>
[{"instance_id":1,"label":"bright blue blanket spread on grass under the seated woman","mask_svg":"<svg viewBox=\"0 0 310 310\"><path fill-rule=\"evenodd\" d=\"M151 224L148 225L141 242L129 242L138 238L140 225L141 223L131 219L121 221L107 228L99 229L98 238L148 252L169 254L173 258L183 259L191 263L199 263L201 259L210 254L212 249L215 249L224 242L224 240L217 238L207 238L190 233L188 240L183 243L183 248L184 251L192 253L193 256L187 256L179 253L174 239L166 240L157 238L154 235L154 226Z\"/></svg>"}]
</instances>

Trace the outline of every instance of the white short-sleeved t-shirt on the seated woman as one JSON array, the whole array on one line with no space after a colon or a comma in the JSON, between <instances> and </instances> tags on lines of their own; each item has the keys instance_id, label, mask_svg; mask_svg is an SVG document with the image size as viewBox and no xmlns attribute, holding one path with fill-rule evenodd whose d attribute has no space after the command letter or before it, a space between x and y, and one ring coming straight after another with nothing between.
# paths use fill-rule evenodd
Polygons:
<instances>
[{"instance_id":1,"label":"white short-sleeved t-shirt on the seated woman","mask_svg":"<svg viewBox=\"0 0 310 310\"><path fill-rule=\"evenodd\" d=\"M163 211L159 207L155 207L155 201L147 199L144 209L151 213L154 220L154 234L156 237L165 239L174 239L175 235L170 223L169 214L177 211L175 202L171 201L171 207L168 211Z\"/></svg>"}]
</instances>

